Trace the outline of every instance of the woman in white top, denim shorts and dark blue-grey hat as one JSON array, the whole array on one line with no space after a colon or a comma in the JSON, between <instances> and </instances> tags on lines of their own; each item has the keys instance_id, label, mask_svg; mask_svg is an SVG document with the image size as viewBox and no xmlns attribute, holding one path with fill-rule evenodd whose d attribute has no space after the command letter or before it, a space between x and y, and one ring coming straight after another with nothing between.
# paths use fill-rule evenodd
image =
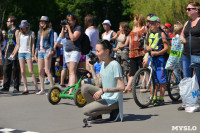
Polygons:
<instances>
[{"instance_id":1,"label":"woman in white top, denim shorts and dark blue-grey hat","mask_svg":"<svg viewBox=\"0 0 200 133\"><path fill-rule=\"evenodd\" d=\"M30 24L27 20L22 20L21 24L19 25L20 32L19 32L19 40L17 40L16 47L14 49L13 54L10 57L15 57L18 53L19 63L20 63L20 70L21 70L21 77L24 82L24 91L22 94L28 94L28 86L27 86L27 79L26 79L26 69L25 64L27 62L29 73L32 75L33 83L35 85L35 93L38 92L38 85L37 80L35 77L35 73L33 72L33 62L34 60L34 41L35 41L35 33L30 30ZM26 60L26 61L25 61Z\"/></svg>"}]
</instances>

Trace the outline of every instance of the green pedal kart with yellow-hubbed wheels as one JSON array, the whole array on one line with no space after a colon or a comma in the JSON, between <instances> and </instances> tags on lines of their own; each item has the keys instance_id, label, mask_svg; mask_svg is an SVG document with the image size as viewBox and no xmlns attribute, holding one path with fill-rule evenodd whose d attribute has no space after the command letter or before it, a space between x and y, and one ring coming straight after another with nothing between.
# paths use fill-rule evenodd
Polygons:
<instances>
[{"instance_id":1,"label":"green pedal kart with yellow-hubbed wheels","mask_svg":"<svg viewBox=\"0 0 200 133\"><path fill-rule=\"evenodd\" d=\"M83 68L78 68L77 71L80 75L80 79L79 79L78 83L76 83L72 86L69 86L63 92L61 91L60 87L58 87L58 86L53 86L51 89L49 89L47 98L51 104L53 104L53 105L58 104L60 102L61 98L68 98L68 99L73 99L74 103L78 107L83 107L86 105L87 102L82 96L80 84L81 84L81 81L83 80L83 78L88 77L87 74L89 73L91 75L91 73ZM72 93L66 94L69 91L69 89L71 89L71 88L74 88Z\"/></svg>"}]
</instances>

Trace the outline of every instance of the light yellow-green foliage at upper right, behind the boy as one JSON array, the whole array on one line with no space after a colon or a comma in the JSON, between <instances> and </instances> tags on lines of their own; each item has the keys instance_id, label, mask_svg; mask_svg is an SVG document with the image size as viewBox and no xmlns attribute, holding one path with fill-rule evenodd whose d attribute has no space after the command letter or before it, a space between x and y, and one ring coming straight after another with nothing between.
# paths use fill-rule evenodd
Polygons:
<instances>
[{"instance_id":1,"label":"light yellow-green foliage at upper right, behind the boy","mask_svg":"<svg viewBox=\"0 0 200 133\"><path fill-rule=\"evenodd\" d=\"M187 3L191 0L128 0L131 14L147 16L153 13L161 19L161 23L185 23L189 18L186 12ZM200 2L200 0L197 0Z\"/></svg>"}]
</instances>

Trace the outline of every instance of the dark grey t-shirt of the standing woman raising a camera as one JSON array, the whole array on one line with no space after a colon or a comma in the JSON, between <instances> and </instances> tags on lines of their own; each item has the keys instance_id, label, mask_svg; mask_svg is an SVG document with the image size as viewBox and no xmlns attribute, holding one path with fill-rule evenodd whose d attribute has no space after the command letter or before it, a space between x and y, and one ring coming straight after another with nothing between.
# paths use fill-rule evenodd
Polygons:
<instances>
[{"instance_id":1,"label":"dark grey t-shirt of the standing woman raising a camera","mask_svg":"<svg viewBox=\"0 0 200 133\"><path fill-rule=\"evenodd\" d=\"M76 40L76 41L71 41L70 37L69 37L69 33L67 32L65 34L65 37L67 39L67 44L66 44L66 47L65 47L65 51L66 52L70 52L70 51L79 51L81 52L81 40L82 40L82 37L83 37L83 32L82 32L82 27L81 26L75 26L74 29L72 29L72 33L74 33L75 31L80 31L81 32L81 35L80 37Z\"/></svg>"}]
</instances>

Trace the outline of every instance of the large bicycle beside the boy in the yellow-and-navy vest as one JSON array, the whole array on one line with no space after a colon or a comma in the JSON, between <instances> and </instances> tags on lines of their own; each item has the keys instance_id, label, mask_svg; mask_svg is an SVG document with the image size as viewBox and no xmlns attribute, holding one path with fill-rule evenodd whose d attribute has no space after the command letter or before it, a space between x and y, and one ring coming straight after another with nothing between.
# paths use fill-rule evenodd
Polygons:
<instances>
[{"instance_id":1,"label":"large bicycle beside the boy in the yellow-and-navy vest","mask_svg":"<svg viewBox=\"0 0 200 133\"><path fill-rule=\"evenodd\" d=\"M160 37L158 39L155 47L158 45L160 39L163 39L163 37ZM165 39L169 40L168 38ZM145 45L145 40L144 40L144 45ZM155 72L155 66L152 62L151 53L150 52L148 53L150 58L149 66L147 68L140 68L136 72L132 83L132 94L134 101L141 108L146 108L152 103L155 92L155 77L153 75L153 72ZM182 78L183 78L182 73L180 73L180 79ZM177 75L174 74L173 71L167 72L166 89L168 91L169 97L173 101L177 101L180 98L179 88L178 88L180 79L177 77Z\"/></svg>"}]
</instances>

